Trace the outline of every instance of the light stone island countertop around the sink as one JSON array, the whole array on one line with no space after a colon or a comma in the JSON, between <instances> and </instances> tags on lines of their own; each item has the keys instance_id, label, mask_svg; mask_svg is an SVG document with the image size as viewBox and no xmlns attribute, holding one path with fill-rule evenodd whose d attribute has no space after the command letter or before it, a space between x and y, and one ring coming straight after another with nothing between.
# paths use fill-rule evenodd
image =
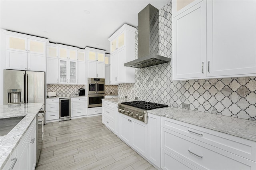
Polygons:
<instances>
[{"instance_id":1,"label":"light stone island countertop around the sink","mask_svg":"<svg viewBox=\"0 0 256 170\"><path fill-rule=\"evenodd\" d=\"M0 169L16 149L42 105L44 103L0 105L0 119L25 116L8 134L0 136Z\"/></svg>"}]
</instances>

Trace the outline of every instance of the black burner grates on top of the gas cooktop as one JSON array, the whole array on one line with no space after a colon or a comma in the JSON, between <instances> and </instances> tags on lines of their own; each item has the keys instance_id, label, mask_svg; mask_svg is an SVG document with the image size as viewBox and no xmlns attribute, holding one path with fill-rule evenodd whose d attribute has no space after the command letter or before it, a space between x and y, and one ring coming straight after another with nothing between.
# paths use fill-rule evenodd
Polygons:
<instances>
[{"instance_id":1,"label":"black burner grates on top of the gas cooktop","mask_svg":"<svg viewBox=\"0 0 256 170\"><path fill-rule=\"evenodd\" d=\"M158 108L162 108L162 107L168 107L168 105L162 105L162 104L158 104L158 103L150 103L150 102L146 102L146 101L130 101L130 102L123 102L122 104L137 107L140 109L145 109L145 110L152 110L152 109L158 109Z\"/></svg>"}]
</instances>

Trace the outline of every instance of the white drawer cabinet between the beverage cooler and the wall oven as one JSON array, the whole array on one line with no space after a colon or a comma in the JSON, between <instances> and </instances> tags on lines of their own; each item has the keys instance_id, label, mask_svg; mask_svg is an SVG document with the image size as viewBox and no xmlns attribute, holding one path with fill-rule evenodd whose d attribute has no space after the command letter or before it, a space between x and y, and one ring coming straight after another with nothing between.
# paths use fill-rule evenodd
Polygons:
<instances>
[{"instance_id":1,"label":"white drawer cabinet between the beverage cooler and the wall oven","mask_svg":"<svg viewBox=\"0 0 256 170\"><path fill-rule=\"evenodd\" d=\"M87 97L71 98L71 117L85 117L87 115Z\"/></svg>"}]
</instances>

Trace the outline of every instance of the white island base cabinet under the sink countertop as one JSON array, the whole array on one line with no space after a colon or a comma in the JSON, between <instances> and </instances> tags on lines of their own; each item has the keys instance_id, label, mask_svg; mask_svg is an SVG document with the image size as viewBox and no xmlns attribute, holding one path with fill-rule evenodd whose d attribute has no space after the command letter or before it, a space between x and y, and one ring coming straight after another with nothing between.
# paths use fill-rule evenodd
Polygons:
<instances>
[{"instance_id":1,"label":"white island base cabinet under the sink countertop","mask_svg":"<svg viewBox=\"0 0 256 170\"><path fill-rule=\"evenodd\" d=\"M36 168L36 119L31 123L3 170L34 170Z\"/></svg>"}]
</instances>

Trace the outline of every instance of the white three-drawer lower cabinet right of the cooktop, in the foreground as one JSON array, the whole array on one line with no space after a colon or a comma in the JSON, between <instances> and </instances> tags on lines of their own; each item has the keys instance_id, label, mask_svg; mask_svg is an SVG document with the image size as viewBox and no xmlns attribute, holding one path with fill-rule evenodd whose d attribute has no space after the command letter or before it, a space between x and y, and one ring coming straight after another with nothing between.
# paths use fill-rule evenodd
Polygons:
<instances>
[{"instance_id":1,"label":"white three-drawer lower cabinet right of the cooktop, in the foreground","mask_svg":"<svg viewBox=\"0 0 256 170\"><path fill-rule=\"evenodd\" d=\"M162 117L161 133L161 147L164 152L161 159L163 169L254 170L256 168L255 161L231 153L236 152L235 150L239 152L248 149L247 152L252 153L250 158L255 160L255 142L240 143L243 138L236 137L237 139L234 140L232 135L221 132L216 134L214 130L166 117ZM225 140L229 140L229 143L225 143ZM236 143L238 145L240 143L239 148L232 147L232 145L236 146ZM222 144L226 145L225 149L218 147ZM169 164L170 162L173 166Z\"/></svg>"}]
</instances>

